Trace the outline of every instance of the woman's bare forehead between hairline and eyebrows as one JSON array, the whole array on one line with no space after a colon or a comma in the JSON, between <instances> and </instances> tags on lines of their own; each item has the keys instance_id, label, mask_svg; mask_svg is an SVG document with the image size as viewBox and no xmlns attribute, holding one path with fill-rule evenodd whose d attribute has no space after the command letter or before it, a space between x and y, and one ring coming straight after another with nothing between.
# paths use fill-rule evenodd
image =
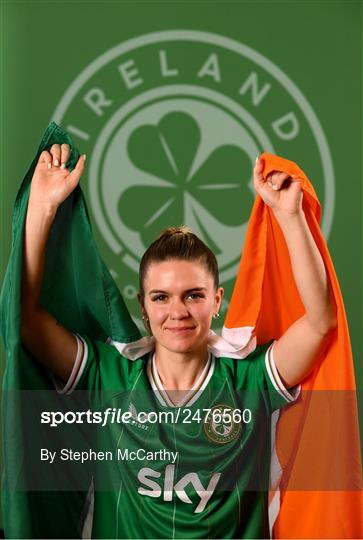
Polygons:
<instances>
[{"instance_id":1,"label":"woman's bare forehead between hairline and eyebrows","mask_svg":"<svg viewBox=\"0 0 363 540\"><path fill-rule=\"evenodd\" d=\"M188 290L193 287L210 287L213 278L198 261L171 259L151 263L145 276L144 288L160 290Z\"/></svg>"}]
</instances>

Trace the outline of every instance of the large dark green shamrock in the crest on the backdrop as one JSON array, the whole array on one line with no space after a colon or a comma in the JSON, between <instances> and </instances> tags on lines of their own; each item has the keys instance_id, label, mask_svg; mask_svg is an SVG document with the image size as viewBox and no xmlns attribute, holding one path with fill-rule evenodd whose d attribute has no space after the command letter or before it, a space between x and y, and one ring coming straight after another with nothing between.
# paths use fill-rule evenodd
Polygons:
<instances>
[{"instance_id":1,"label":"large dark green shamrock in the crest on the backdrop","mask_svg":"<svg viewBox=\"0 0 363 540\"><path fill-rule=\"evenodd\" d=\"M185 224L218 255L221 248L213 241L205 216L211 214L229 227L246 221L253 203L247 185L252 169L249 157L240 147L225 144L211 150L195 170L200 143L200 128L185 112L167 113L157 125L144 124L131 133L129 157L137 169L157 178L157 185L126 189L118 212L125 225L141 235L144 245L163 228Z\"/></svg>"}]
</instances>

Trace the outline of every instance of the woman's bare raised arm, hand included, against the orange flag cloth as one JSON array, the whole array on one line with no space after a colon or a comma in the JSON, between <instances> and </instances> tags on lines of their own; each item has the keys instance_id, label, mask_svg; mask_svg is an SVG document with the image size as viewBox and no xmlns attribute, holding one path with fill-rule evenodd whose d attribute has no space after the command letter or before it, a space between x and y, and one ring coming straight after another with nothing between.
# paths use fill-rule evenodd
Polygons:
<instances>
[{"instance_id":1,"label":"woman's bare raised arm, hand included, against the orange flag cloth","mask_svg":"<svg viewBox=\"0 0 363 540\"><path fill-rule=\"evenodd\" d=\"M273 348L280 377L291 388L310 373L331 338L330 332L337 325L336 306L323 259L305 219L300 181L282 171L270 173L265 181L262 171L263 162L257 159L254 186L272 209L284 235L296 287L305 307L305 314L287 328Z\"/></svg>"}]
</instances>

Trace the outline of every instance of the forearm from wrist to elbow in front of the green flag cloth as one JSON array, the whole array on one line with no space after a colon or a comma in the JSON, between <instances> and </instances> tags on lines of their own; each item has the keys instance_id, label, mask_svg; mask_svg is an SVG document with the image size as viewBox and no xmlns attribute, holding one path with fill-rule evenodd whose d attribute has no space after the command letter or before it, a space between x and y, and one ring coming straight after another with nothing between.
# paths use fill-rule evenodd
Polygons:
<instances>
[{"instance_id":1,"label":"forearm from wrist to elbow in front of the green flag cloth","mask_svg":"<svg viewBox=\"0 0 363 540\"><path fill-rule=\"evenodd\" d=\"M44 273L45 250L55 211L29 204L23 244L22 312L39 309L39 297Z\"/></svg>"}]
</instances>

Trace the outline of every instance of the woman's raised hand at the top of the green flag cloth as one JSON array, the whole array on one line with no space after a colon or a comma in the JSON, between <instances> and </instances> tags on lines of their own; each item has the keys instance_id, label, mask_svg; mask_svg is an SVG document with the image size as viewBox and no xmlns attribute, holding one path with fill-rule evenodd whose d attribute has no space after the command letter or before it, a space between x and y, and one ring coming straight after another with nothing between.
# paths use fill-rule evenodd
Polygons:
<instances>
[{"instance_id":1,"label":"woman's raised hand at the top of the green flag cloth","mask_svg":"<svg viewBox=\"0 0 363 540\"><path fill-rule=\"evenodd\" d=\"M66 169L69 156L68 144L53 144L50 151L44 150L34 171L29 205L55 212L72 193L82 176L86 156L80 156L70 173Z\"/></svg>"}]
</instances>

